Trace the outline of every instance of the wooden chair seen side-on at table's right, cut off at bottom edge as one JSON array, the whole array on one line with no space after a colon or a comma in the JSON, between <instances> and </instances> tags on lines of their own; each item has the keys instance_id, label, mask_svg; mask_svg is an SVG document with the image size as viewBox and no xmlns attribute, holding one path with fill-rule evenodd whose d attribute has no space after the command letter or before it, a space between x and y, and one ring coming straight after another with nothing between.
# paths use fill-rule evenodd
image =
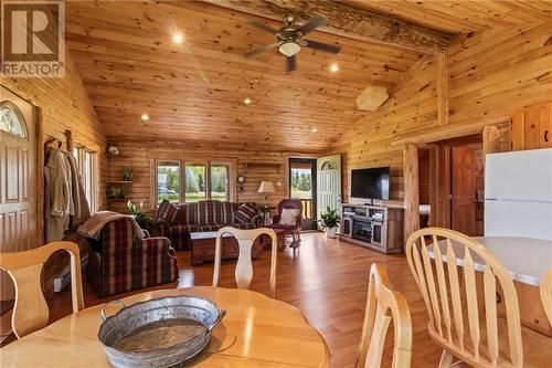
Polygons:
<instances>
[{"instance_id":1,"label":"wooden chair seen side-on at table's right, cut off at bottom edge","mask_svg":"<svg viewBox=\"0 0 552 368\"><path fill-rule=\"evenodd\" d=\"M372 264L368 284L367 312L357 368L381 367L389 324L393 320L392 368L408 368L412 358L412 322L403 294L393 291L385 267Z\"/></svg>"}]
</instances>

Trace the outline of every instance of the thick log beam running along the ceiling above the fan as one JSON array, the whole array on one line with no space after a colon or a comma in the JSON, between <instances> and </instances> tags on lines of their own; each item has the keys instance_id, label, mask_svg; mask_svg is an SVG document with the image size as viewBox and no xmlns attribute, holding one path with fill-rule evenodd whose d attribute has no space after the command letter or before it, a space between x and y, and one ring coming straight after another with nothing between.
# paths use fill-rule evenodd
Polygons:
<instances>
[{"instance_id":1,"label":"thick log beam running along the ceiling above the fan","mask_svg":"<svg viewBox=\"0 0 552 368\"><path fill-rule=\"evenodd\" d=\"M433 54L446 50L454 36L333 1L301 0L204 0L214 6L282 21L294 15L306 21L326 17L329 25L320 31L359 41L376 42Z\"/></svg>"}]
</instances>

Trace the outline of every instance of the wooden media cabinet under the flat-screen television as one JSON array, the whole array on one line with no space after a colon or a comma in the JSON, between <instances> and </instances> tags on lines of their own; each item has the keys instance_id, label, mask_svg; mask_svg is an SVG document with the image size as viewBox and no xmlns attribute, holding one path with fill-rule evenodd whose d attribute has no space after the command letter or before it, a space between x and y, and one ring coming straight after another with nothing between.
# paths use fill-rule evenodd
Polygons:
<instances>
[{"instance_id":1,"label":"wooden media cabinet under the flat-screen television","mask_svg":"<svg viewBox=\"0 0 552 368\"><path fill-rule=\"evenodd\" d=\"M403 252L403 209L341 203L340 239L381 253Z\"/></svg>"}]
</instances>

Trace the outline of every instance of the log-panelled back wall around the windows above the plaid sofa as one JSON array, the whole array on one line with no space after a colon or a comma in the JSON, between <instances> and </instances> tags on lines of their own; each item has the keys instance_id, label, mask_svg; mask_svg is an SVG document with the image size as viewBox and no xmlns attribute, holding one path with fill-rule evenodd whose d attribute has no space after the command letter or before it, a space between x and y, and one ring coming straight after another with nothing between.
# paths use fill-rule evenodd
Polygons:
<instances>
[{"instance_id":1,"label":"log-panelled back wall around the windows above the plaid sofa","mask_svg":"<svg viewBox=\"0 0 552 368\"><path fill-rule=\"evenodd\" d=\"M121 155L109 158L109 180L121 180L125 167L135 170L132 185L129 186L128 198L136 204L140 201L144 209L152 211L153 166L156 159L182 159L187 161L214 160L232 162L233 172L231 182L235 188L235 177L245 176L243 192L237 192L236 200L265 203L264 196L257 193L262 180L274 182L276 192L269 194L268 204L276 207L278 201L288 197L288 158L314 157L300 153L270 153L258 150L243 150L232 147L220 147L216 144L204 145L198 143L179 141L112 141L119 148ZM277 186L280 182L280 186ZM110 201L109 209L126 212L126 201Z\"/></svg>"}]
</instances>

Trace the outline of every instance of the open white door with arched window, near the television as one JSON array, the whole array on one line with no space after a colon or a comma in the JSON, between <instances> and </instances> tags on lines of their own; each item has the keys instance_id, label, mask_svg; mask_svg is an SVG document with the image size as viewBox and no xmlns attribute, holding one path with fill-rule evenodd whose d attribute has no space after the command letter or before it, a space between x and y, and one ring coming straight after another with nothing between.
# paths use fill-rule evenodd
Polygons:
<instances>
[{"instance_id":1,"label":"open white door with arched window, near the television","mask_svg":"<svg viewBox=\"0 0 552 368\"><path fill-rule=\"evenodd\" d=\"M329 206L339 210L341 200L341 155L317 159L317 219Z\"/></svg>"}]
</instances>

